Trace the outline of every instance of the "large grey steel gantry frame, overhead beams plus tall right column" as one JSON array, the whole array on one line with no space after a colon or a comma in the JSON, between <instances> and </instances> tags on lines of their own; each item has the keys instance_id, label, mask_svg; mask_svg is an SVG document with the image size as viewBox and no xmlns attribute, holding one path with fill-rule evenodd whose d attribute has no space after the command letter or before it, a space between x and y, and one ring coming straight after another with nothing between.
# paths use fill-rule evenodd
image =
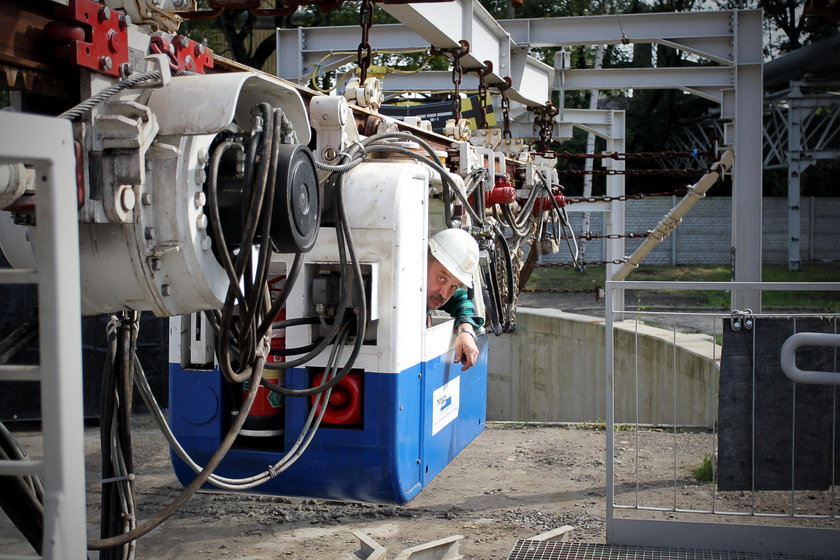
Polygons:
<instances>
[{"instance_id":1,"label":"large grey steel gantry frame, overhead beams plus tall right column","mask_svg":"<svg viewBox=\"0 0 840 560\"><path fill-rule=\"evenodd\" d=\"M501 20L493 26L488 23L486 10L474 0L387 5L384 9L405 25L374 26L371 42L375 49L424 48L428 44L451 47L460 39L467 39L472 47L472 59L462 60L463 65L478 66L481 61L492 61L494 76L488 83L510 75L512 91L517 92L510 97L527 105L544 103L539 95L544 80L549 78L553 89L676 88L720 103L725 121L724 143L735 148L736 154L732 170L734 280L761 280L763 58L759 10ZM502 36L499 28L507 35ZM351 40L350 35L339 36L349 33L343 29L278 30L278 51L301 53L297 65L278 62L279 75L298 79L305 74L305 60L311 64L316 55L354 51L358 42ZM353 33L354 37L358 36L357 31ZM517 57L527 56L531 47L619 43L661 44L710 60L716 66L596 70L548 67L550 70L546 70L538 65L516 64ZM541 72L538 78L531 74L537 69ZM444 76L449 79L450 73L420 72L399 78L389 75L385 81L388 89L451 90ZM464 78L465 89L477 82L474 77ZM526 83L535 84L536 89L526 90ZM400 87L394 88L395 84ZM752 289L734 291L732 307L758 312L761 294Z\"/></svg>"}]
</instances>

